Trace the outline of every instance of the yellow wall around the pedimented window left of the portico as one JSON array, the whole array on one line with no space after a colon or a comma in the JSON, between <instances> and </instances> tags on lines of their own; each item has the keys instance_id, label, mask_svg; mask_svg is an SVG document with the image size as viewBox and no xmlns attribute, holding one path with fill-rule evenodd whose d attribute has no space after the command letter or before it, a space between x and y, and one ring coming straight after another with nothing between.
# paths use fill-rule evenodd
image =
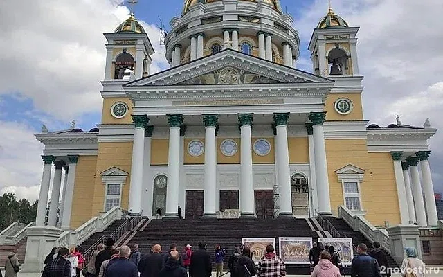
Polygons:
<instances>
[{"instance_id":1,"label":"yellow wall around the pedimented window left of the portico","mask_svg":"<svg viewBox=\"0 0 443 277\"><path fill-rule=\"evenodd\" d=\"M129 173L126 183L123 184L121 198L121 207L127 209L129 202L129 186L131 184L131 161L132 142L98 143L92 215L98 215L105 210L105 184L102 182L100 173L114 166Z\"/></svg>"}]
</instances>

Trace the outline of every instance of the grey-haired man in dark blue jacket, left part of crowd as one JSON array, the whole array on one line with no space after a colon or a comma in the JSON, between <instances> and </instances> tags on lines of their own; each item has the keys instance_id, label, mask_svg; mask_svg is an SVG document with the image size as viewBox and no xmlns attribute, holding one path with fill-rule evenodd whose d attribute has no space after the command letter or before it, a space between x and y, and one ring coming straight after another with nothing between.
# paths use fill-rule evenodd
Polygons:
<instances>
[{"instance_id":1,"label":"grey-haired man in dark blue jacket, left part of crowd","mask_svg":"<svg viewBox=\"0 0 443 277\"><path fill-rule=\"evenodd\" d=\"M120 258L106 269L107 277L138 277L137 267L129 260L131 249L127 245L120 247Z\"/></svg>"}]
</instances>

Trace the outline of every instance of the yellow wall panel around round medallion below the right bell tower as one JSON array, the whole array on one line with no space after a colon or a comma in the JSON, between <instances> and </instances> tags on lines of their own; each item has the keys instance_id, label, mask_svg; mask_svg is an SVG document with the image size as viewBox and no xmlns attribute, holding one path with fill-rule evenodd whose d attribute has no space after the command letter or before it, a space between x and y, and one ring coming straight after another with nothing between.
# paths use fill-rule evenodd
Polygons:
<instances>
[{"instance_id":1,"label":"yellow wall panel around round medallion below the right bell tower","mask_svg":"<svg viewBox=\"0 0 443 277\"><path fill-rule=\"evenodd\" d=\"M347 98L352 102L350 114L338 114L334 104L338 98ZM363 107L361 105L361 94L359 93L332 93L329 94L325 102L326 120L363 120Z\"/></svg>"}]
</instances>

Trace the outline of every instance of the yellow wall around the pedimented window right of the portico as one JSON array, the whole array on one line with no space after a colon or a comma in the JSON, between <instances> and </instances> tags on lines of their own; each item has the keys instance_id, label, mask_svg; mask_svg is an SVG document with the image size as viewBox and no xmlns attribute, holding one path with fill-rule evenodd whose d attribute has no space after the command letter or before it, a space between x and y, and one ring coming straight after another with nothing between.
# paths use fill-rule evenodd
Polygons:
<instances>
[{"instance_id":1,"label":"yellow wall around the pedimented window right of the portico","mask_svg":"<svg viewBox=\"0 0 443 277\"><path fill-rule=\"evenodd\" d=\"M374 225L400 223L397 186L390 153L368 153L365 139L325 140L329 195L332 213L343 205L343 186L338 182L336 170L352 164L365 170L361 182L361 206L367 211L365 218Z\"/></svg>"}]
</instances>

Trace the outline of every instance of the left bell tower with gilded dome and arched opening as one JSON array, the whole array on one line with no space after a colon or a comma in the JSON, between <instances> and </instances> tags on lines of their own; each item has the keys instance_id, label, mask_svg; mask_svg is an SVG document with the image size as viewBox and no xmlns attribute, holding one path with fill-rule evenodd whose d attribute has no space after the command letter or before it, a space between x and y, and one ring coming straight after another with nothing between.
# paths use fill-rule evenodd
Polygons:
<instances>
[{"instance_id":1,"label":"left bell tower with gilded dome and arched opening","mask_svg":"<svg viewBox=\"0 0 443 277\"><path fill-rule=\"evenodd\" d=\"M114 33L104 34L106 44L106 80L135 80L150 74L154 48L134 14L123 21Z\"/></svg>"}]
</instances>

